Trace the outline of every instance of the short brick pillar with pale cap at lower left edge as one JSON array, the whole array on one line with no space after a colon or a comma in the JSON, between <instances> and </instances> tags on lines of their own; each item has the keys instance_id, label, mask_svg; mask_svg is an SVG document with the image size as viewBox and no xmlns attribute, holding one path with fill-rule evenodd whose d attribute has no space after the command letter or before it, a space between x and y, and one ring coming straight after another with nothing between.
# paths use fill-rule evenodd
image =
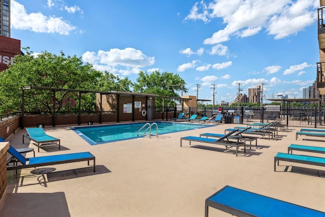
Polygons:
<instances>
[{"instance_id":1,"label":"short brick pillar with pale cap at lower left edge","mask_svg":"<svg viewBox=\"0 0 325 217\"><path fill-rule=\"evenodd\" d=\"M0 142L0 207L7 189L7 150L9 142Z\"/></svg>"}]
</instances>

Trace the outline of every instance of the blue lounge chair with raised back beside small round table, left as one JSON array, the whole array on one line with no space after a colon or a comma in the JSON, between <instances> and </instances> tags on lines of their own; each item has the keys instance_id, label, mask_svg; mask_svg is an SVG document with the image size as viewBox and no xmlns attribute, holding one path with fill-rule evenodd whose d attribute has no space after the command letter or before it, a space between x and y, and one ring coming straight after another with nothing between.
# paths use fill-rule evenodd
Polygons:
<instances>
[{"instance_id":1,"label":"blue lounge chair with raised back beside small round table, left","mask_svg":"<svg viewBox=\"0 0 325 217\"><path fill-rule=\"evenodd\" d=\"M22 165L14 165L7 166L7 170L17 170L31 167L41 167L48 165L56 165L56 164L66 164L72 162L80 162L80 161L93 161L93 172L95 172L95 157L90 152L78 152L78 153L68 153L68 154L57 154L52 156L44 156L44 157L35 157L35 158L25 158L20 154L15 148L11 145L7 150L17 161L19 161ZM28 162L28 163L27 163Z\"/></svg>"}]
</instances>

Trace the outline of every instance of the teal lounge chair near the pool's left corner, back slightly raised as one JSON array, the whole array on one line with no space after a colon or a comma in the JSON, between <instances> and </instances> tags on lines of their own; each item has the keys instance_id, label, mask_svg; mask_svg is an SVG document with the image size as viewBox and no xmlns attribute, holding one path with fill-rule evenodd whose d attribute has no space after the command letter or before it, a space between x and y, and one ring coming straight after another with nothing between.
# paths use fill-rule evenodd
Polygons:
<instances>
[{"instance_id":1,"label":"teal lounge chair near the pool's left corner, back slightly raised","mask_svg":"<svg viewBox=\"0 0 325 217\"><path fill-rule=\"evenodd\" d=\"M38 152L40 152L41 143L58 142L60 149L60 140L55 137L48 136L43 130L43 128L26 128L26 131L28 135L22 136L22 143L24 143L24 137L34 142L37 142Z\"/></svg>"}]
</instances>

